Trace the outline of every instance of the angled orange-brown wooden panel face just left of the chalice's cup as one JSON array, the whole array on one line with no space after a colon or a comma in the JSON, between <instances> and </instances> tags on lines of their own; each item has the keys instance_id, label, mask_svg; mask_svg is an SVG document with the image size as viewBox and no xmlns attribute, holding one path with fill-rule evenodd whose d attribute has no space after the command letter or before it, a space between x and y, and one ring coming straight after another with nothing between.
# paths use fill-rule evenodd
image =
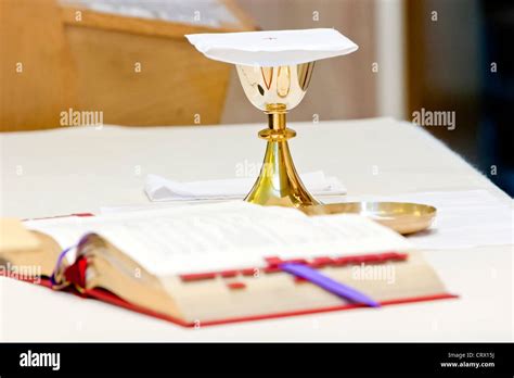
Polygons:
<instances>
[{"instance_id":1,"label":"angled orange-brown wooden panel face just left of the chalice's cup","mask_svg":"<svg viewBox=\"0 0 514 378\"><path fill-rule=\"evenodd\" d=\"M80 105L103 111L105 124L192 125L196 114L201 124L219 123L230 67L203 59L183 38L66 29Z\"/></svg>"}]
</instances>

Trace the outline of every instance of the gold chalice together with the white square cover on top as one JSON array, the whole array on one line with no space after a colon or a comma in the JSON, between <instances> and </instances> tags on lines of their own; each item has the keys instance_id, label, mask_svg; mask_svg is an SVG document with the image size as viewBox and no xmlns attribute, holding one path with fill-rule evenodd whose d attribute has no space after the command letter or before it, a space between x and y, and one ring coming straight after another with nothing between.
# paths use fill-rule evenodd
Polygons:
<instances>
[{"instance_id":1,"label":"gold chalice together with the white square cover on top","mask_svg":"<svg viewBox=\"0 0 514 378\"><path fill-rule=\"evenodd\" d=\"M249 102L268 114L268 141L259 177L245 200L262 205L318 205L305 188L287 140L296 133L285 116L301 101L314 61L354 52L358 46L330 28L187 35L207 58L236 65Z\"/></svg>"}]
</instances>

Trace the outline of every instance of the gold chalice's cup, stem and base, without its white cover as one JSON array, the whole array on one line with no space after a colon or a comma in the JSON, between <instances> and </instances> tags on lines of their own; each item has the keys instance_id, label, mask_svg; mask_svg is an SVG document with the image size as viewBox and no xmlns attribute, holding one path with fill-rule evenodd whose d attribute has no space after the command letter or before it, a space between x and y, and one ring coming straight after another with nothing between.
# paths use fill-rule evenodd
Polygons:
<instances>
[{"instance_id":1,"label":"gold chalice's cup, stem and base, without its white cover","mask_svg":"<svg viewBox=\"0 0 514 378\"><path fill-rule=\"evenodd\" d=\"M245 201L294 207L320 204L296 172L287 144L296 133L285 122L287 111L304 98L313 67L313 62L279 67L236 66L246 97L268 114L268 128L259 131L259 137L268 141L265 160Z\"/></svg>"}]
</instances>

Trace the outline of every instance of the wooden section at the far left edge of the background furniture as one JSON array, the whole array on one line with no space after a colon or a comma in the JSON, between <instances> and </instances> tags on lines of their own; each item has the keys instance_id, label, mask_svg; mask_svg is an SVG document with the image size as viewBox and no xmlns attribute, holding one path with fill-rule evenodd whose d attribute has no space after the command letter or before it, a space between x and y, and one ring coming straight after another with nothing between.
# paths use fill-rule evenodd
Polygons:
<instances>
[{"instance_id":1,"label":"wooden section at the far left edge of the background furniture","mask_svg":"<svg viewBox=\"0 0 514 378\"><path fill-rule=\"evenodd\" d=\"M77 108L60 12L53 0L0 0L0 131L55 127Z\"/></svg>"}]
</instances>

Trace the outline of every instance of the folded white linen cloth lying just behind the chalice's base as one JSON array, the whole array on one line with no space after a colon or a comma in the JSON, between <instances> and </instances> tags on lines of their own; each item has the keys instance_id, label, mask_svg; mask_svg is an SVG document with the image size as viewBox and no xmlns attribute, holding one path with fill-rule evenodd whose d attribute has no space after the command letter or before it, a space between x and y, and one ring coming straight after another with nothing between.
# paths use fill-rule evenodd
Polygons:
<instances>
[{"instance_id":1,"label":"folded white linen cloth lying just behind the chalice's base","mask_svg":"<svg viewBox=\"0 0 514 378\"><path fill-rule=\"evenodd\" d=\"M346 188L322 171L300 174L313 196L342 196ZM144 191L151 201L194 201L242 199L252 189L255 177L179 182L157 175L147 175Z\"/></svg>"}]
</instances>

